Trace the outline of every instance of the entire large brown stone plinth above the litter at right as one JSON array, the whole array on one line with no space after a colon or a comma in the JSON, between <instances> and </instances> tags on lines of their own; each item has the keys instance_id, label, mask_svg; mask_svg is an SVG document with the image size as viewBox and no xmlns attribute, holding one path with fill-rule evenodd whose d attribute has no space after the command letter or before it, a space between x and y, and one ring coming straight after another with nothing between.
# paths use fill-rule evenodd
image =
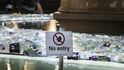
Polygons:
<instances>
[{"instance_id":1,"label":"entire large brown stone plinth above the litter at right","mask_svg":"<svg viewBox=\"0 0 124 70\"><path fill-rule=\"evenodd\" d=\"M124 0L61 0L59 12L67 31L124 34Z\"/></svg>"}]
</instances>

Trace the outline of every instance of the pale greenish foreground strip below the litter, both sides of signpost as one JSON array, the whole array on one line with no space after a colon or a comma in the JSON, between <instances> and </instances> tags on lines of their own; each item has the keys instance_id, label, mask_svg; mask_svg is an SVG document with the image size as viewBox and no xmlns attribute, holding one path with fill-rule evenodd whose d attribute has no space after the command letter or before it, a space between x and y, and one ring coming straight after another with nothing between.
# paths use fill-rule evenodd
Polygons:
<instances>
[{"instance_id":1,"label":"pale greenish foreground strip below the litter, both sides of signpost","mask_svg":"<svg viewBox=\"0 0 124 70\"><path fill-rule=\"evenodd\" d=\"M107 65L108 64L108 65ZM124 64L91 61L64 61L64 70L123 70ZM0 56L0 70L58 70L57 58Z\"/></svg>"}]
</instances>

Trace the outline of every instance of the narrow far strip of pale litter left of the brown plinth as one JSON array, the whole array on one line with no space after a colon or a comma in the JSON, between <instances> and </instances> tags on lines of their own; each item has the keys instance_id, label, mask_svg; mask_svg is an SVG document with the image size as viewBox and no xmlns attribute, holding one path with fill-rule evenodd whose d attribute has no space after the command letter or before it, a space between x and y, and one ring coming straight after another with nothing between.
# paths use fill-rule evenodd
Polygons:
<instances>
[{"instance_id":1,"label":"narrow far strip of pale litter left of the brown plinth","mask_svg":"<svg viewBox=\"0 0 124 70\"><path fill-rule=\"evenodd\" d=\"M0 15L0 22L16 21L18 23L23 23L23 22L44 23L52 19L53 19L53 14L21 14L21 15L3 14L3 15Z\"/></svg>"}]
</instances>

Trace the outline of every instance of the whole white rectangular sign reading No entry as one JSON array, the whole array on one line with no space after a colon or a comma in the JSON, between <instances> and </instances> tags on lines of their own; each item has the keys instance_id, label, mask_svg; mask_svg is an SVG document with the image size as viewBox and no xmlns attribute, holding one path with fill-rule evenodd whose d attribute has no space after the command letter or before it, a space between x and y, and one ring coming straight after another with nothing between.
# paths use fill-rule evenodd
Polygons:
<instances>
[{"instance_id":1,"label":"whole white rectangular sign reading No entry","mask_svg":"<svg viewBox=\"0 0 124 70\"><path fill-rule=\"evenodd\" d=\"M48 56L72 56L72 32L46 32L46 53Z\"/></svg>"}]
</instances>

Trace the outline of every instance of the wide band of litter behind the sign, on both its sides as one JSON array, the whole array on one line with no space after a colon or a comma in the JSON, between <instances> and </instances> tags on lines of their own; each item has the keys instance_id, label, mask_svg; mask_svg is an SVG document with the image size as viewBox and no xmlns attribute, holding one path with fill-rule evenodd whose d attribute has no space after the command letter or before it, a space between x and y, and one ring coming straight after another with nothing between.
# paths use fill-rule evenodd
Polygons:
<instances>
[{"instance_id":1,"label":"wide band of litter behind the sign, on both its sides","mask_svg":"<svg viewBox=\"0 0 124 70\"><path fill-rule=\"evenodd\" d=\"M0 27L0 53L46 56L45 31ZM73 33L80 58L124 62L124 36ZM105 56L105 57L103 57Z\"/></svg>"}]
</instances>

